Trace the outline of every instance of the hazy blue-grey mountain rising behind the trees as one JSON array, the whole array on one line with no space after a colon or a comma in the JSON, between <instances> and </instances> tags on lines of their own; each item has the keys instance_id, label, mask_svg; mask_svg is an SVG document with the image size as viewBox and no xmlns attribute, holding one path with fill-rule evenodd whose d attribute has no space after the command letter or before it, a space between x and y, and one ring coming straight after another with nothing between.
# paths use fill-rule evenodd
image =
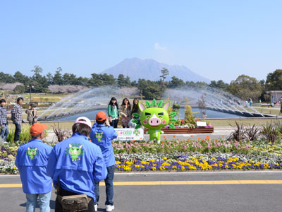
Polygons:
<instances>
[{"instance_id":1,"label":"hazy blue-grey mountain rising behind the trees","mask_svg":"<svg viewBox=\"0 0 282 212\"><path fill-rule=\"evenodd\" d=\"M166 81L169 81L172 76L176 76L183 81L210 82L209 79L200 76L185 66L170 66L168 64L161 64L154 59L139 59L136 57L124 59L119 64L116 64L116 66L102 71L102 73L112 74L115 78L118 78L119 74L123 74L124 76L129 76L130 81L138 81L139 78L158 81L161 75L161 69L163 68L169 71L169 76L167 76Z\"/></svg>"}]
</instances>

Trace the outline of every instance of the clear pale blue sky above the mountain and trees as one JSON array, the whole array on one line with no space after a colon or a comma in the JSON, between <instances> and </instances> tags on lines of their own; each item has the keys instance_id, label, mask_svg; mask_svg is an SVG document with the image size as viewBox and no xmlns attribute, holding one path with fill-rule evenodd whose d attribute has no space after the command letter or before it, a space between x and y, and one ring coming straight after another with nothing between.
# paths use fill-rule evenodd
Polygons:
<instances>
[{"instance_id":1,"label":"clear pale blue sky above the mountain and trees","mask_svg":"<svg viewBox=\"0 0 282 212\"><path fill-rule=\"evenodd\" d=\"M0 71L90 77L125 58L227 83L282 69L282 1L2 0Z\"/></svg>"}]
</instances>

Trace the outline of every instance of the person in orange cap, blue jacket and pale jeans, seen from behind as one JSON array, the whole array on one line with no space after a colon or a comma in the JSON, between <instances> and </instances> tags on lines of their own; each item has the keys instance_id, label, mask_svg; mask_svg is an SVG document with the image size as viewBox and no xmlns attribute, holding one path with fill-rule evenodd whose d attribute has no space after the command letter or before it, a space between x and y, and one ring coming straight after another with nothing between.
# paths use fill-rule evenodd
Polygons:
<instances>
[{"instance_id":1,"label":"person in orange cap, blue jacket and pale jeans, seen from behind","mask_svg":"<svg viewBox=\"0 0 282 212\"><path fill-rule=\"evenodd\" d=\"M34 212L37 198L41 212L50 211L52 179L47 175L51 146L42 142L47 125L35 123L30 127L32 139L18 148L16 166L20 170L23 192L26 194L26 211Z\"/></svg>"}]
</instances>

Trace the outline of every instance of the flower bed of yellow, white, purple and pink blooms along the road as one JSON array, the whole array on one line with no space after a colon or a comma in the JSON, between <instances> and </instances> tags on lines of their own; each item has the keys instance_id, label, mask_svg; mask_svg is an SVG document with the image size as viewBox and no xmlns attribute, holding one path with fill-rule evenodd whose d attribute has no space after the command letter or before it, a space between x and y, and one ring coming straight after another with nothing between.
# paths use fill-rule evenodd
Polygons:
<instances>
[{"instance_id":1,"label":"flower bed of yellow, white, purple and pink blooms along the road","mask_svg":"<svg viewBox=\"0 0 282 212\"><path fill-rule=\"evenodd\" d=\"M197 138L187 141L114 141L118 171L265 170L281 169L282 146L251 141ZM0 173L18 174L16 144L0 151Z\"/></svg>"}]
</instances>

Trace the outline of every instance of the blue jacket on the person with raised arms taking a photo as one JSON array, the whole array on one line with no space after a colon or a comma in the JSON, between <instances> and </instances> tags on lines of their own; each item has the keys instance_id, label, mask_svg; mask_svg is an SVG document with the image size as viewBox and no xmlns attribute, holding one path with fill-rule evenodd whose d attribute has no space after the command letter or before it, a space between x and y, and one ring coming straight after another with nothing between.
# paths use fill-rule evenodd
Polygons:
<instances>
[{"instance_id":1,"label":"blue jacket on the person with raised arms taking a photo","mask_svg":"<svg viewBox=\"0 0 282 212\"><path fill-rule=\"evenodd\" d=\"M104 124L97 123L92 126L90 139L101 148L106 167L115 165L116 163L111 140L116 139L117 136L118 134L116 134L113 126L105 126Z\"/></svg>"}]
</instances>

